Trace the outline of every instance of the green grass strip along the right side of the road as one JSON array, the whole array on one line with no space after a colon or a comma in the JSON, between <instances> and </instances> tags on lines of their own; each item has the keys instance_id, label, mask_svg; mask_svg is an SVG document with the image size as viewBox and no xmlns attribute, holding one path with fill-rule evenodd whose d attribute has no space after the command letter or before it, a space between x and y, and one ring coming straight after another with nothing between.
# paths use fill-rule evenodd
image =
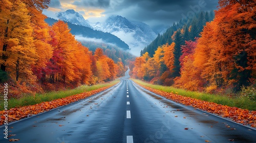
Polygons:
<instances>
[{"instance_id":1,"label":"green grass strip along the right side of the road","mask_svg":"<svg viewBox=\"0 0 256 143\"><path fill-rule=\"evenodd\" d=\"M151 88L158 89L165 92L176 93L184 97L190 97L190 98L213 102L221 105L227 105L229 107L238 107L241 109L248 109L250 111L256 110L256 103L249 100L246 97L231 98L231 97L222 96L218 94L209 94L209 93L197 92L197 91L187 91L180 88L174 88L172 86L154 85L154 84L146 83L137 79L132 79L132 80L136 83L139 83L147 87L151 87Z\"/></svg>"}]
</instances>

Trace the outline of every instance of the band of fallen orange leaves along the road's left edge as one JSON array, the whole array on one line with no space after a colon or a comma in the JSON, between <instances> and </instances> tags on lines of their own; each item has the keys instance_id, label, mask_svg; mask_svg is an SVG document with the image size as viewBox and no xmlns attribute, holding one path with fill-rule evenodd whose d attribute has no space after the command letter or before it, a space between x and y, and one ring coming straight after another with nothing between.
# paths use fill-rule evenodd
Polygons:
<instances>
[{"instance_id":1,"label":"band of fallen orange leaves along the road's left edge","mask_svg":"<svg viewBox=\"0 0 256 143\"><path fill-rule=\"evenodd\" d=\"M25 118L25 117L28 117L28 116L31 116L34 114L49 111L49 110L57 108L59 106L68 105L72 102L90 97L93 94L103 91L109 87L102 87L102 88L99 88L96 90L83 92L80 94L75 94L73 96L69 96L69 97L62 98L62 99L56 99L56 100L49 101L49 102L42 102L39 104L24 106L24 107L19 107L19 108L11 108L6 111L6 112L8 112L8 122L17 121L17 120L20 120L21 118ZM0 111L0 116L1 116L0 126L4 124L4 120L5 120L4 113L6 113L6 112Z\"/></svg>"}]
</instances>

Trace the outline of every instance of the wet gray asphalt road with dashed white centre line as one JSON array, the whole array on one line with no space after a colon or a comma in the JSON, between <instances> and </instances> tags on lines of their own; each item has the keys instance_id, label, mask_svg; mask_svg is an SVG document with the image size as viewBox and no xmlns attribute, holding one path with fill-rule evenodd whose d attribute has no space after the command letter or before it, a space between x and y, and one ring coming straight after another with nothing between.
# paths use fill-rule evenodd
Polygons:
<instances>
[{"instance_id":1,"label":"wet gray asphalt road with dashed white centre line","mask_svg":"<svg viewBox=\"0 0 256 143\"><path fill-rule=\"evenodd\" d=\"M158 96L129 80L128 72L90 98L9 124L9 134L16 134L10 138L33 143L256 142L256 130ZM8 140L2 135L0 142Z\"/></svg>"}]
</instances>

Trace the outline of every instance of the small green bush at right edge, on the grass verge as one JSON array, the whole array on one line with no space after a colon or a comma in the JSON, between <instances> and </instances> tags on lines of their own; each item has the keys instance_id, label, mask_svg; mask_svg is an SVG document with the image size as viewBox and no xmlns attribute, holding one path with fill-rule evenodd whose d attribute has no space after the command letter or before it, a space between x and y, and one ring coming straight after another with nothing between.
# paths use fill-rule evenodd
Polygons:
<instances>
[{"instance_id":1,"label":"small green bush at right edge, on the grass verge","mask_svg":"<svg viewBox=\"0 0 256 143\"><path fill-rule=\"evenodd\" d=\"M254 86L243 86L240 91L241 97L247 97L249 100L256 102L256 88Z\"/></svg>"}]
</instances>

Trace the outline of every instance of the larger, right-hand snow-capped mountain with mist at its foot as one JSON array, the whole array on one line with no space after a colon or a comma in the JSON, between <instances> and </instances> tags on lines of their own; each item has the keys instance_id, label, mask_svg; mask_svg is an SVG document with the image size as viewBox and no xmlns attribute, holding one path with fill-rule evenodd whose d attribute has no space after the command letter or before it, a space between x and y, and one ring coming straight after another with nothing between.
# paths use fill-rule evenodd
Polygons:
<instances>
[{"instance_id":1,"label":"larger, right-hand snow-capped mountain with mist at its foot","mask_svg":"<svg viewBox=\"0 0 256 143\"><path fill-rule=\"evenodd\" d=\"M129 21L122 16L110 16L104 22L97 22L93 28L116 35L131 48L131 53L139 55L138 51L150 44L156 37L156 33L143 22Z\"/></svg>"}]
</instances>

